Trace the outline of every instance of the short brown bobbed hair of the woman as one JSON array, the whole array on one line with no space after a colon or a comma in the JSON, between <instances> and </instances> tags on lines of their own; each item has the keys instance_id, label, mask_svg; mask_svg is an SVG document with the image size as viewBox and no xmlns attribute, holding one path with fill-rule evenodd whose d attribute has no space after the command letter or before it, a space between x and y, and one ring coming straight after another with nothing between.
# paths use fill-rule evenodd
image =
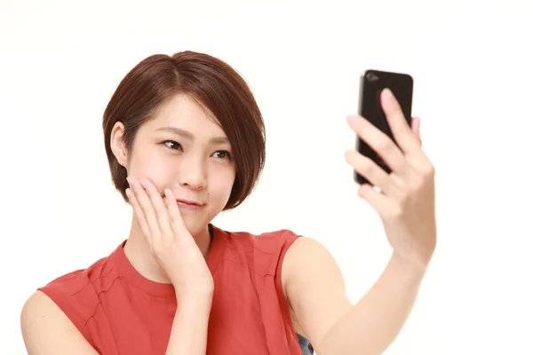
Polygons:
<instances>
[{"instance_id":1,"label":"short brown bobbed hair of the woman","mask_svg":"<svg viewBox=\"0 0 533 355\"><path fill-rule=\"evenodd\" d=\"M143 59L124 76L104 112L107 161L115 188L128 201L127 172L111 151L111 130L123 122L124 144L130 150L143 122L167 99L183 93L215 115L229 139L235 161L235 183L225 209L234 209L250 195L265 165L265 124L243 77L226 62L208 54L181 51Z\"/></svg>"}]
</instances>

